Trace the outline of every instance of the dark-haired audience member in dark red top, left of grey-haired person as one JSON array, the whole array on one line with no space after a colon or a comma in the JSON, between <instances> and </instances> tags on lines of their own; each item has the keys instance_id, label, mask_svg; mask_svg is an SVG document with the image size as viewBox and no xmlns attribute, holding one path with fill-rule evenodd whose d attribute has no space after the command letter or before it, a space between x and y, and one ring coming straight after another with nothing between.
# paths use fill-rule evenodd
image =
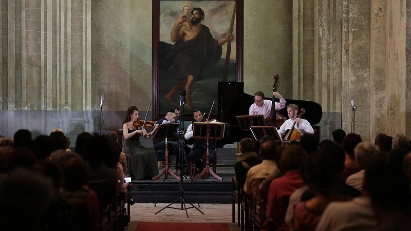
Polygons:
<instances>
[{"instance_id":1,"label":"dark-haired audience member in dark red top, left of grey-haired person","mask_svg":"<svg viewBox=\"0 0 411 231\"><path fill-rule=\"evenodd\" d=\"M349 133L343 139L343 149L345 151L344 170L340 172L340 179L345 182L347 177L361 170L356 162L354 148L361 143L359 134Z\"/></svg>"}]
</instances>

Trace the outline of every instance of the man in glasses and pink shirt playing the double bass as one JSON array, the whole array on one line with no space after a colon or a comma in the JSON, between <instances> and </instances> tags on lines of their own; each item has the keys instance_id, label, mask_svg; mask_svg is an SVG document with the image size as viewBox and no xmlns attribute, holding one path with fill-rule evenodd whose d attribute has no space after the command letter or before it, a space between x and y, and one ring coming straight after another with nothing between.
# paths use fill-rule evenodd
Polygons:
<instances>
[{"instance_id":1,"label":"man in glasses and pink shirt playing the double bass","mask_svg":"<svg viewBox=\"0 0 411 231\"><path fill-rule=\"evenodd\" d=\"M278 92L273 92L273 96L275 98L279 98L279 103L275 102L275 110L283 109L286 106L286 100L284 97L282 97L282 95ZM262 114L264 115L264 119L270 119L272 101L264 99L263 91L257 91L254 93L254 102L255 103L250 106L249 114Z\"/></svg>"}]
</instances>

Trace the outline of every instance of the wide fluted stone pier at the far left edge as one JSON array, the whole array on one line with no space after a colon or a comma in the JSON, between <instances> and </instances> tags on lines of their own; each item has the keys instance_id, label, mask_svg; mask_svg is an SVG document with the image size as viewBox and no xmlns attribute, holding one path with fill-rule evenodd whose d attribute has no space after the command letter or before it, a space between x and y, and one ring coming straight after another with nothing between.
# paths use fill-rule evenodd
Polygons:
<instances>
[{"instance_id":1,"label":"wide fluted stone pier at the far left edge","mask_svg":"<svg viewBox=\"0 0 411 231\"><path fill-rule=\"evenodd\" d=\"M19 128L49 133L54 127L76 133L70 123L75 120L78 125L79 118L83 130L92 130L91 114L86 111L91 109L90 3L2 1L0 107L9 112L2 113L1 119L18 125L2 129L2 134ZM67 113L71 110L81 113ZM39 119L40 123L27 122Z\"/></svg>"}]
</instances>

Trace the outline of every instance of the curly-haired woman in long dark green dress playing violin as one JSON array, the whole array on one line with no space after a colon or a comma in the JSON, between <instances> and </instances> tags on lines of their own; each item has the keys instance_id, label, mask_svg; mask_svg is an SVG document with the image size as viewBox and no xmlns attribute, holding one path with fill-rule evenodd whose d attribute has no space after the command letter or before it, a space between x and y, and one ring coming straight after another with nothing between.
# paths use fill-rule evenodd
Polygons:
<instances>
[{"instance_id":1,"label":"curly-haired woman in long dark green dress playing violin","mask_svg":"<svg viewBox=\"0 0 411 231\"><path fill-rule=\"evenodd\" d=\"M150 138L157 130L158 124L154 125L153 131L147 133L143 127L135 127L134 122L139 119L139 111L136 106L127 109L123 122L123 137L125 139L123 152L130 158L128 172L133 179L152 179L158 175L157 157L153 148L141 145L140 137Z\"/></svg>"}]
</instances>

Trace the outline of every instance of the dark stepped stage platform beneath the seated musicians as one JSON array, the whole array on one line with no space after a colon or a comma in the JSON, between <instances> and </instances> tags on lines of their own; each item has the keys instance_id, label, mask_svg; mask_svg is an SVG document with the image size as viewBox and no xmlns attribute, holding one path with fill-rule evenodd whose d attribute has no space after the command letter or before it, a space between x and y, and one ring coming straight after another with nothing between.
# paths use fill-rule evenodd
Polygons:
<instances>
[{"instance_id":1,"label":"dark stepped stage platform beneath the seated musicians","mask_svg":"<svg viewBox=\"0 0 411 231\"><path fill-rule=\"evenodd\" d=\"M180 188L183 189L183 197L195 204L201 203L231 203L232 177L234 174L236 148L217 148L216 174L222 181L209 178L200 178L196 181L184 179L182 182L172 176L164 180L133 180L130 194L139 203L167 203L181 197ZM174 161L171 169L175 171ZM162 171L159 170L160 172ZM161 191L161 192L160 192Z\"/></svg>"}]
</instances>

